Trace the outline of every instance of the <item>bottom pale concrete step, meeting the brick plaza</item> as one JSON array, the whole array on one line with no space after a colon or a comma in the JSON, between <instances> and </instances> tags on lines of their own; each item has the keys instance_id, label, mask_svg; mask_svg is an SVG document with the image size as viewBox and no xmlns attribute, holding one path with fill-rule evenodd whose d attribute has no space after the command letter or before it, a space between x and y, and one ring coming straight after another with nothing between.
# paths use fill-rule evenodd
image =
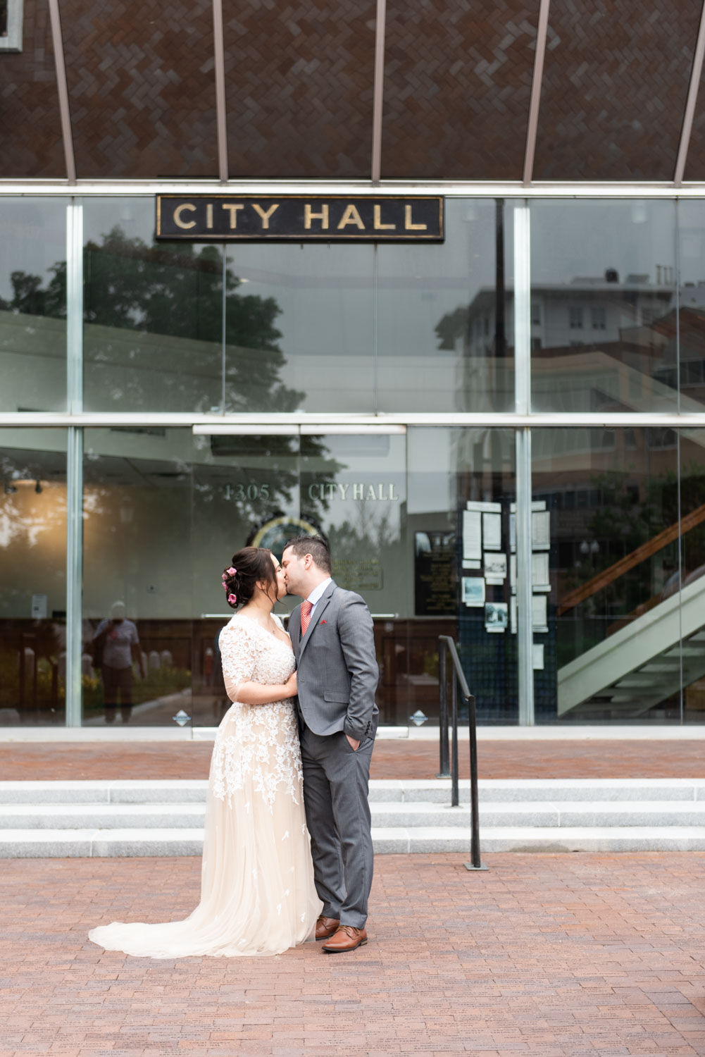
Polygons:
<instances>
[{"instance_id":1,"label":"bottom pale concrete step, meeting the brick plaza","mask_svg":"<svg viewBox=\"0 0 705 1057\"><path fill-rule=\"evenodd\" d=\"M469 858L465 828L374 828L377 855L459 852ZM200 855L202 830L6 830L0 858L86 858ZM487 827L483 855L490 852L705 851L705 827Z\"/></svg>"}]
</instances>

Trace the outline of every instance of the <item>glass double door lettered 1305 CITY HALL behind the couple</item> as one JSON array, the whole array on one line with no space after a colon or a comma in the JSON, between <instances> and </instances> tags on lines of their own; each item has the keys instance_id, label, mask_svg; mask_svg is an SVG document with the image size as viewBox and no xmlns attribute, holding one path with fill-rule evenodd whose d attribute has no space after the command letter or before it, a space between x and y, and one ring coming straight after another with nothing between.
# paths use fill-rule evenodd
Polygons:
<instances>
[{"instance_id":1,"label":"glass double door lettered 1305 CITY HALL behind the couple","mask_svg":"<svg viewBox=\"0 0 705 1057\"><path fill-rule=\"evenodd\" d=\"M405 429L271 428L194 439L201 451L193 464L193 724L217 725L229 706L218 650L233 615L222 597L222 568L243 545L281 558L287 539L314 533L331 546L335 581L361 594L372 612L382 722L406 724L401 674L408 671L413 567ZM290 596L277 606L284 623L299 601Z\"/></svg>"}]
</instances>

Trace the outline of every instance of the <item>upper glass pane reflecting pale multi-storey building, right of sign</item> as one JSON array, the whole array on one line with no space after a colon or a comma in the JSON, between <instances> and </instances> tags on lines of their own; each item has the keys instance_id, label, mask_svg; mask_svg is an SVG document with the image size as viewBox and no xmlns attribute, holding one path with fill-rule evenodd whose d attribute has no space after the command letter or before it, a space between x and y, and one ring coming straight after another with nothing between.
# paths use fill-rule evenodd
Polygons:
<instances>
[{"instance_id":1,"label":"upper glass pane reflecting pale multi-storey building, right of sign","mask_svg":"<svg viewBox=\"0 0 705 1057\"><path fill-rule=\"evenodd\" d=\"M675 203L531 214L533 410L678 411Z\"/></svg>"}]
</instances>

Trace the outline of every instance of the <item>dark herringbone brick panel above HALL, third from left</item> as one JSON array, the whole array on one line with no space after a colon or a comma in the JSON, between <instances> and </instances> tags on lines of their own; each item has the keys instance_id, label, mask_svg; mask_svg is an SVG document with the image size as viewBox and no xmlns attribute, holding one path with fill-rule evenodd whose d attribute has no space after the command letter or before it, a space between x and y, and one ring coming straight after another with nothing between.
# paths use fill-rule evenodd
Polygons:
<instances>
[{"instance_id":1,"label":"dark herringbone brick panel above HALL, third from left","mask_svg":"<svg viewBox=\"0 0 705 1057\"><path fill-rule=\"evenodd\" d=\"M369 178L374 0L225 0L231 177Z\"/></svg>"}]
</instances>

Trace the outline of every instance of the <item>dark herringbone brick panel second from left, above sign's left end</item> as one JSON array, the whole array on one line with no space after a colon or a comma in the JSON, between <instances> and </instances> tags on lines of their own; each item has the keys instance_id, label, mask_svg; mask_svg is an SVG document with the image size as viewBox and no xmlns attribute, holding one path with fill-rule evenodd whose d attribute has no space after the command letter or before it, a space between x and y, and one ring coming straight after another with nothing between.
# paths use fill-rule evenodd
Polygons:
<instances>
[{"instance_id":1,"label":"dark herringbone brick panel second from left, above sign's left end","mask_svg":"<svg viewBox=\"0 0 705 1057\"><path fill-rule=\"evenodd\" d=\"M217 175L209 0L60 2L77 175Z\"/></svg>"}]
</instances>

